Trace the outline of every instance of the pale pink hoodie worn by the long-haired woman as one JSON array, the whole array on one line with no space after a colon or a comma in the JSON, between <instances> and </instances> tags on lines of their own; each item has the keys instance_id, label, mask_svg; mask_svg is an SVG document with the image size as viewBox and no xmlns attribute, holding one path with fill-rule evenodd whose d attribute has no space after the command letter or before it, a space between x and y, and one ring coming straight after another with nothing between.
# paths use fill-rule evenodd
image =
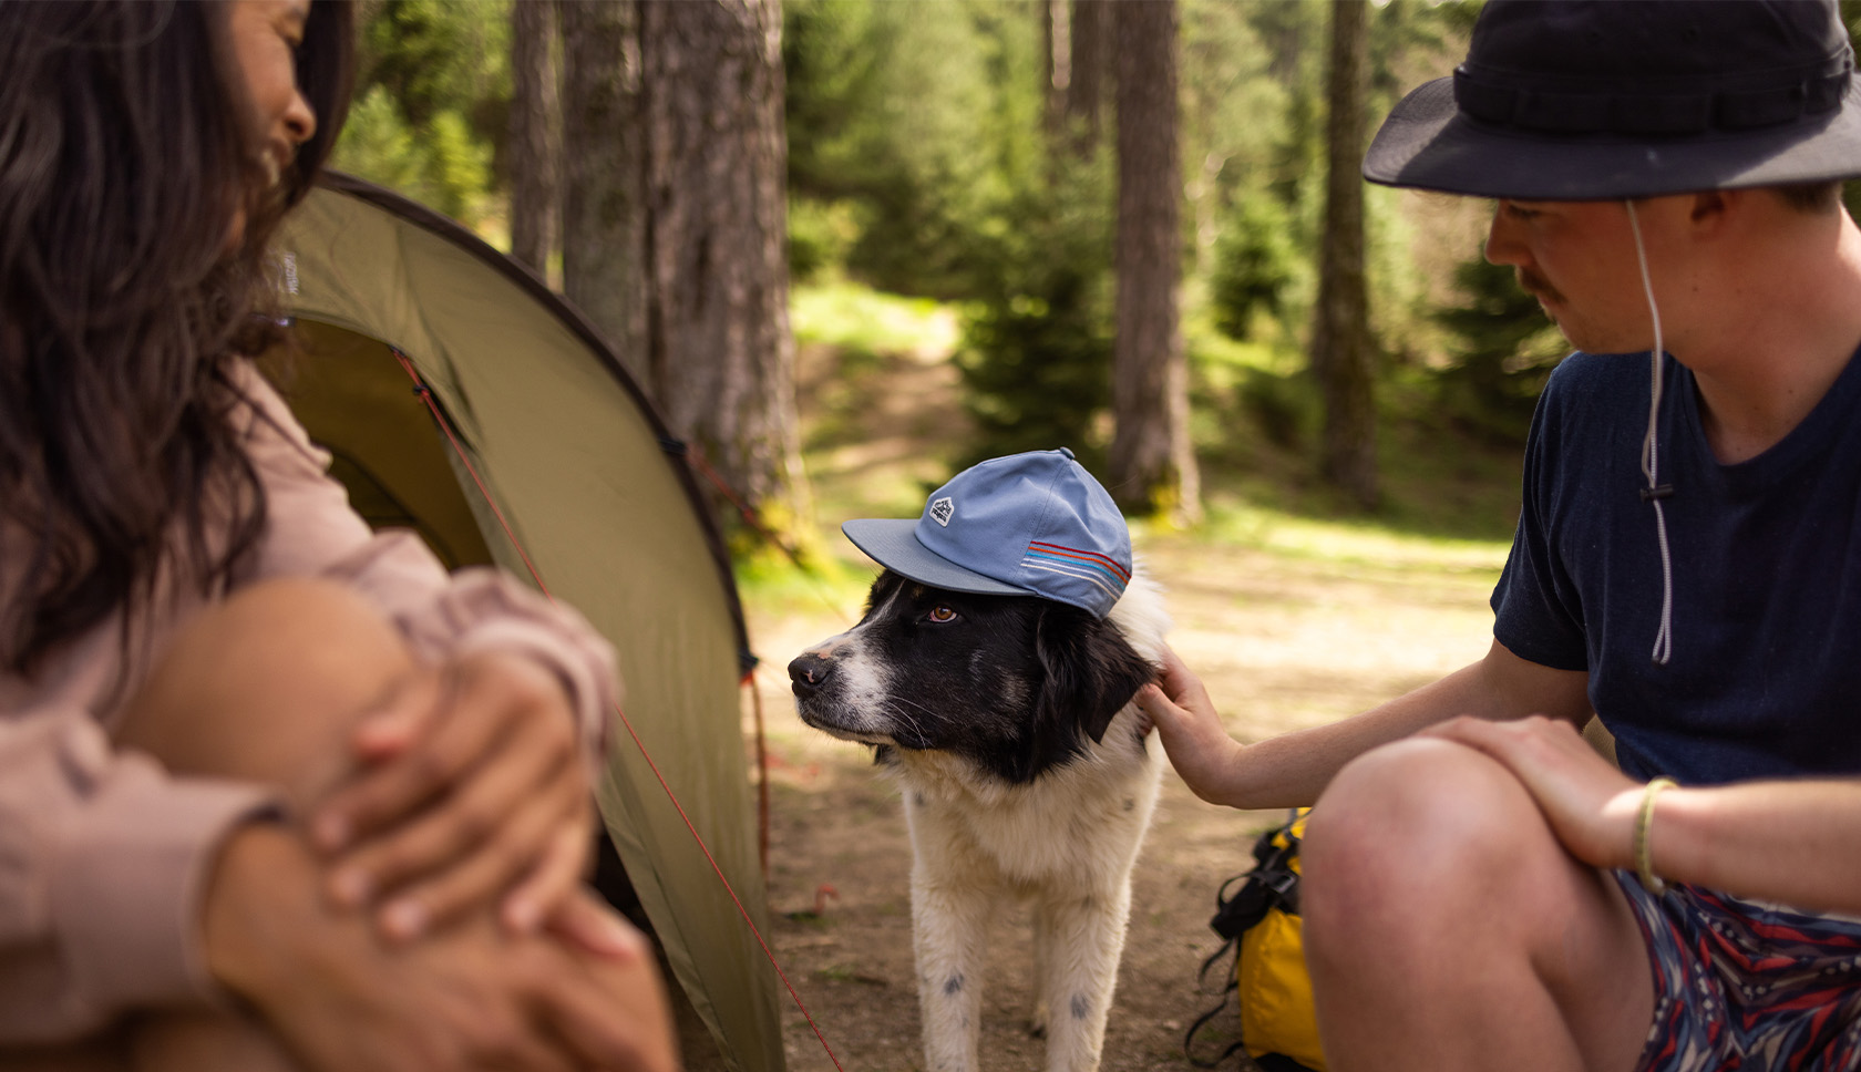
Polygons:
<instances>
[{"instance_id":1,"label":"pale pink hoodie worn by the long-haired woman","mask_svg":"<svg viewBox=\"0 0 1861 1072\"><path fill-rule=\"evenodd\" d=\"M270 516L234 586L333 577L374 601L421 657L532 653L560 674L597 756L618 698L609 644L506 575L449 577L417 536L372 534L326 475L328 454L249 365L240 385L257 402L249 454ZM17 534L0 529L0 599L15 597L20 558ZM0 672L0 1048L73 1040L127 1009L214 996L195 934L201 884L220 839L272 793L173 778L114 750L121 700L205 603L164 579L156 605L132 622L128 664L117 614L30 679Z\"/></svg>"}]
</instances>

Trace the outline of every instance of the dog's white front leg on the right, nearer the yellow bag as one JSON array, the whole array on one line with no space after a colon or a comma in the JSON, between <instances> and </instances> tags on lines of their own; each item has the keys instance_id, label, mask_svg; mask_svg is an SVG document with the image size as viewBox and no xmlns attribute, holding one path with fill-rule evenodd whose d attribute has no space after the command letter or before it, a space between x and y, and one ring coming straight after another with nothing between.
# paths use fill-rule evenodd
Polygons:
<instances>
[{"instance_id":1,"label":"dog's white front leg on the right, nearer the yellow bag","mask_svg":"<svg viewBox=\"0 0 1861 1072\"><path fill-rule=\"evenodd\" d=\"M1046 1007L1048 1072L1092 1072L1105 1042L1105 1016L1118 983L1130 886L1048 895L1035 904L1046 931L1040 1005Z\"/></svg>"}]
</instances>

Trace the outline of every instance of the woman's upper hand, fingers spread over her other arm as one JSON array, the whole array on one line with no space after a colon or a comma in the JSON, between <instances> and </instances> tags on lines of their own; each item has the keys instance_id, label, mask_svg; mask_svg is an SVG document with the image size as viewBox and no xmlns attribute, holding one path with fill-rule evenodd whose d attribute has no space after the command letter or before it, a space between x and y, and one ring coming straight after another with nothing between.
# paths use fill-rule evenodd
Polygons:
<instances>
[{"instance_id":1,"label":"woman's upper hand, fingers spread over her other arm","mask_svg":"<svg viewBox=\"0 0 1861 1072\"><path fill-rule=\"evenodd\" d=\"M352 735L361 772L311 815L339 904L415 938L499 901L530 932L581 880L594 836L575 713L542 663L476 651L421 676Z\"/></svg>"}]
</instances>

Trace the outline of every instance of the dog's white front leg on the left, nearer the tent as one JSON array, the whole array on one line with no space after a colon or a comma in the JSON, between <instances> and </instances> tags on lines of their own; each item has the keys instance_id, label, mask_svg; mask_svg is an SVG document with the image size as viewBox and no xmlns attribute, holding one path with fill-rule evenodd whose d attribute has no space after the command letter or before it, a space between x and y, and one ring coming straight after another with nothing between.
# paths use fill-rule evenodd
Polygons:
<instances>
[{"instance_id":1,"label":"dog's white front leg on the left, nearer the tent","mask_svg":"<svg viewBox=\"0 0 1861 1072\"><path fill-rule=\"evenodd\" d=\"M927 1072L975 1072L983 1016L983 945L994 897L912 867L912 944Z\"/></svg>"}]
</instances>

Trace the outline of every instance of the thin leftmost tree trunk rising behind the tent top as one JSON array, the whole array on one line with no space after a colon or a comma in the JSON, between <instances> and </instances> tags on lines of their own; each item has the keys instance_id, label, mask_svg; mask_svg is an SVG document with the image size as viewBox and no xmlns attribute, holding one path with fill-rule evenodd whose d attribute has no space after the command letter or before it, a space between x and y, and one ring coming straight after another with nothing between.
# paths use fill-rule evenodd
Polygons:
<instances>
[{"instance_id":1,"label":"thin leftmost tree trunk rising behind the tent top","mask_svg":"<svg viewBox=\"0 0 1861 1072\"><path fill-rule=\"evenodd\" d=\"M510 6L510 255L549 277L556 248L556 6Z\"/></svg>"}]
</instances>

